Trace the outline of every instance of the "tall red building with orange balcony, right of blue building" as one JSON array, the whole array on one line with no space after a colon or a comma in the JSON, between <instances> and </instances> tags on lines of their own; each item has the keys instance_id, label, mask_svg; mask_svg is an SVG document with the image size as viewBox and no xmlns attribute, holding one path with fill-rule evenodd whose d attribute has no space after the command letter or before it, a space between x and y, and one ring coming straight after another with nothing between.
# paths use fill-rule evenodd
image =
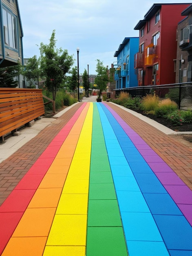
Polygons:
<instances>
[{"instance_id":1,"label":"tall red building with orange balcony, right of blue building","mask_svg":"<svg viewBox=\"0 0 192 256\"><path fill-rule=\"evenodd\" d=\"M139 86L175 83L177 25L189 5L153 4L135 26L139 30L139 52L135 54Z\"/></svg>"}]
</instances>

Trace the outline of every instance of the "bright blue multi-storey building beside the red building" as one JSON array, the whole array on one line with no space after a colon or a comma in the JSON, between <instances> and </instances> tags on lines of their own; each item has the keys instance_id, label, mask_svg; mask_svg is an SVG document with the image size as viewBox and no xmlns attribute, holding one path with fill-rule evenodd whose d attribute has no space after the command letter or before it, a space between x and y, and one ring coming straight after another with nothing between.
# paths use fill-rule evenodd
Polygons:
<instances>
[{"instance_id":1,"label":"bright blue multi-storey building beside the red building","mask_svg":"<svg viewBox=\"0 0 192 256\"><path fill-rule=\"evenodd\" d=\"M116 89L138 86L135 74L135 54L139 49L139 37L126 37L115 52L117 69L115 72Z\"/></svg>"}]
</instances>

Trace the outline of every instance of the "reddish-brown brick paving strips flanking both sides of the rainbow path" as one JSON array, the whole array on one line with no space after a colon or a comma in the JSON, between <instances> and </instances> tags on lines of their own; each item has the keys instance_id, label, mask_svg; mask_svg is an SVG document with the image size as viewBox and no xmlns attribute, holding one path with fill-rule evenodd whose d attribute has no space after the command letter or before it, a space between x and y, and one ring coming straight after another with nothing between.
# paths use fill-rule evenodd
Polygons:
<instances>
[{"instance_id":1,"label":"reddish-brown brick paving strips flanking both sides of the rainbow path","mask_svg":"<svg viewBox=\"0 0 192 256\"><path fill-rule=\"evenodd\" d=\"M64 115L44 128L36 137L27 142L13 155L0 163L0 205L25 173L31 168L52 139L71 119L83 102L76 104ZM133 128L148 145L177 173L192 189L192 148L174 139L171 135L150 126L134 115L114 104L107 103Z\"/></svg>"}]
</instances>

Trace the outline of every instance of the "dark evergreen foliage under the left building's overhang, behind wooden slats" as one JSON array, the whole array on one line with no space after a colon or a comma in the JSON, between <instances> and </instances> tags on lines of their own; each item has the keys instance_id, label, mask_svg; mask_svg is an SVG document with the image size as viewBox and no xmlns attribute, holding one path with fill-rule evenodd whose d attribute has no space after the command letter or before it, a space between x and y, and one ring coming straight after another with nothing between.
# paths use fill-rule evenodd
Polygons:
<instances>
[{"instance_id":1,"label":"dark evergreen foliage under the left building's overhang, behind wooden slats","mask_svg":"<svg viewBox=\"0 0 192 256\"><path fill-rule=\"evenodd\" d=\"M21 65L0 68L0 88L15 88L18 86L16 77L21 73Z\"/></svg>"}]
</instances>

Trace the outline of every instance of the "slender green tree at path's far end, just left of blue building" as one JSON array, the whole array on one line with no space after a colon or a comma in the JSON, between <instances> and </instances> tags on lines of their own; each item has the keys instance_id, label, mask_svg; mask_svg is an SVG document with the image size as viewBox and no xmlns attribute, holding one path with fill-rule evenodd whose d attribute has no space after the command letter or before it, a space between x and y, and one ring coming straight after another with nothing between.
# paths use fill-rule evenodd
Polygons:
<instances>
[{"instance_id":1,"label":"slender green tree at path's far end, just left of blue building","mask_svg":"<svg viewBox=\"0 0 192 256\"><path fill-rule=\"evenodd\" d=\"M101 98L101 93L106 90L108 83L107 67L103 65L103 62L97 59L96 70L97 77L95 78L95 83L99 89L98 99Z\"/></svg>"}]
</instances>

